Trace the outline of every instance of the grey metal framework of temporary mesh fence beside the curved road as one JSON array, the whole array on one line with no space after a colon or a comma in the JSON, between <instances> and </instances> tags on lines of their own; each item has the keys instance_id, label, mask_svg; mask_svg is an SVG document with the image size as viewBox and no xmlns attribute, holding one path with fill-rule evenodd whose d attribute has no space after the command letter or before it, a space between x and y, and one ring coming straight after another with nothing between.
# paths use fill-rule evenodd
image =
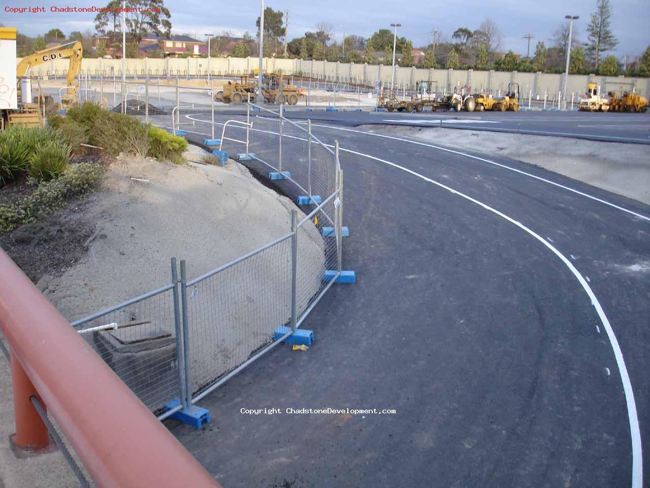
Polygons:
<instances>
[{"instance_id":1,"label":"grey metal framework of temporary mesh fence beside the curved road","mask_svg":"<svg viewBox=\"0 0 650 488\"><path fill-rule=\"evenodd\" d=\"M308 122L307 128L304 128L292 120L288 120L282 115L282 109L283 107L279 107L278 112L274 112L271 110L266 109L265 107L258 107L257 105L253 105L252 103L248 103L248 113L250 113L250 109L255 107L255 109L259 109L261 111L265 111L267 113L272 114L273 116L278 117L278 132L279 132L279 138L277 139L278 141L278 148L277 148L277 156L278 160L276 162L274 161L263 161L262 159L259 159L255 157L254 159L257 159L257 161L260 161L261 163L265 164L266 166L270 167L271 169L278 170L281 172L282 169L282 150L281 150L281 138L282 136L282 125L283 124L291 124L289 127L297 129L300 131L300 133L304 133L306 135L305 139L302 139L302 141L307 141L307 168L306 168L306 174L307 174L307 182L304 181L298 181L297 178L287 178L287 180L302 191L305 191L309 195L309 198L312 197L312 165L313 165L313 158L312 158L312 152L313 152L313 146L317 146L320 151L321 156L326 155L326 163L328 165L331 165L331 167L328 168L328 171L333 172L333 187L327 189L329 191L329 195L327 193L324 193L324 187L321 187L317 191L321 191L321 193L324 193L322 201L318 202L317 205L309 212L307 215L304 216L302 219L298 219L298 212L296 210L291 210L291 228L288 229L287 234L284 234L283 236L280 236L269 243L266 243L265 245L254 249L253 251L250 251L239 258L236 258L235 260L232 260L229 263L226 263L224 265L221 265L220 267L217 267L216 269L213 269L203 275L200 275L199 277L196 277L194 279L188 280L187 279L187 274L186 274L186 266L185 266L185 260L180 261L180 276L178 276L177 273L177 264L175 258L172 258L171 260L171 280L169 284L166 284L162 286L161 288L158 288L157 290L149 291L148 293L144 293L143 295L140 295L138 297L135 297L133 299L130 299L128 301L125 301L123 303L120 303L119 305L115 305L109 308L106 308L105 310L101 310L99 312L96 312L94 314L91 314L90 316L86 316L85 318L76 320L72 322L72 326L77 328L77 331L80 332L81 334L86 334L86 332L92 331L93 333L97 333L99 331L113 331L117 330L120 327L127 327L127 325L120 326L116 321L110 321L110 323L106 324L101 324L101 325L95 325L92 322L97 321L98 319L101 319L105 316L109 316L109 314L112 313L117 313L117 312L128 312L128 307L137 305L137 304L142 304L145 303L146 301L153 299L154 297L157 297L158 295L161 295L162 293L166 293L168 291L172 291L173 297L174 297L174 332L175 332L175 355L176 355L176 363L177 363L177 375L178 375L178 388L177 388L177 398L179 399L179 405L175 406L173 409L153 409L154 413L157 414L157 417L159 420L163 420L164 418L167 418L168 416L174 414L176 411L179 411L181 409L185 409L187 407L190 407L191 405L194 405L201 399L203 399L205 396L207 396L209 393L213 392L214 389L218 388L218 386L223 385L228 381L231 377L233 377L235 374L239 373L241 370L246 368L246 366L252 364L255 360L259 359L262 357L265 353L276 347L278 344L283 342L288 336L290 336L302 323L304 322L305 318L309 315L311 310L315 307L315 305L320 301L320 299L323 297L323 295L330 289L330 286L335 282L336 278L339 277L341 274L341 261L342 261L342 253L341 253L341 244L342 244L342 222L343 222L343 171L341 170L341 165L339 162L339 147L338 147L338 142L335 143L335 150L331 150L330 147L326 146L326 144L323 144L313 133L311 132L311 121ZM173 118L174 115L172 115ZM213 126L214 127L214 126ZM242 126L237 126L238 128L241 129L246 129L247 133L250 129L249 124L244 123L244 127ZM226 126L224 125L224 131L225 131ZM285 137L291 137L289 135L285 135ZM224 139L224 137L222 137ZM237 139L234 138L225 138L226 140L230 141L235 141L235 142L242 142L243 141L238 141ZM248 140L248 135L246 137ZM298 137L293 137L293 139L298 139ZM324 152L323 152L324 150ZM289 155L291 156L291 155ZM285 155L285 158L287 156ZM318 161L317 161L318 163ZM331 173L330 173L331 176ZM330 237L325 237L325 233L321 232L322 229L317 228L316 224L312 222L312 219L314 219L315 215L320 215L320 218L325 219L328 223L331 223L331 226L333 227L333 235L328 234ZM309 296L307 299L306 303L304 306L299 306L298 305L298 291L296 290L297 288L297 271L300 268L301 264L298 262L298 245L300 241L300 233L301 232L307 232L309 230L309 227L315 227L316 230L318 231L318 235L322 235L322 251L323 251L323 256L324 259L326 259L326 251L329 251L330 254L333 256L333 259L335 261L331 261L330 264L335 265L335 269L330 270L333 271L334 274L333 276L323 276L320 277L320 285L318 288L317 293L313 296ZM313 229L311 230L313 232ZM190 313L188 313L188 288L192 288L193 286L200 284L201 282L204 282L205 280L209 280L211 277L215 277L216 275L219 275L219 273L224 273L228 271L229 269L233 268L235 265L248 262L248 260L252 260L255 258L255 256L261 254L262 252L265 252L268 249L272 249L276 245L281 245L282 243L285 243L285 241L289 241L291 244L291 259L289 260L290 264L289 269L285 269L285 271L289 271L289 275L291 276L291 314L290 314L290 320L287 323L271 323L268 325L268 330L269 331L276 331L278 327L280 326L288 326L289 330L282 334L281 337L276 338L275 340L271 340L269 344L262 344L262 347L259 347L258 349L253 349L253 351L250 351L249 357L241 362L240 364L237 364L234 368L231 368L229 370L226 370L224 372L216 372L214 378L209 381L206 385L201 385L200 388L192 388L192 365L190 363L190 360L192 359L192 350L190 349L190 340L192 338L192 327L194 324L190 323ZM328 249L326 250L326 246L329 246ZM324 266L326 265L325 263L323 264ZM324 268L326 269L326 268ZM224 274L224 276L227 276ZM304 297L303 297L304 300ZM302 307L302 309L301 309ZM87 325L89 327L86 327L86 329L79 329L79 327ZM137 325L137 324L136 324ZM130 325L129 325L130 326ZM276 334L277 335L277 334ZM159 399L161 401L170 401L174 400L174 398L163 398ZM156 403L156 405L159 405L160 403Z\"/></svg>"}]
</instances>

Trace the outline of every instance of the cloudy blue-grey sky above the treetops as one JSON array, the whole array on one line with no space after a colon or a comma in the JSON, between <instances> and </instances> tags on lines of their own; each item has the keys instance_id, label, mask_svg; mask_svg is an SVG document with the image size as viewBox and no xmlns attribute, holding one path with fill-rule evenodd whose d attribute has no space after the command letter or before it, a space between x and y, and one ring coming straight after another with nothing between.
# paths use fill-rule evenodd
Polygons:
<instances>
[{"instance_id":1,"label":"cloudy blue-grey sky above the treetops","mask_svg":"<svg viewBox=\"0 0 650 488\"><path fill-rule=\"evenodd\" d=\"M36 35L53 27L59 27L65 34L71 31L94 29L91 13L52 13L50 7L103 7L105 1L99 0L16 0L0 3L0 23L18 27L19 31ZM534 43L543 40L549 45L554 29L562 23L567 14L578 15L578 38L586 40L586 25L590 14L595 10L595 0L575 0L571 7L561 5L562 0L543 2L532 0L465 0L462 3L440 2L394 2L389 5L377 0L266 0L266 7L276 10L289 9L289 38L302 36L305 31L314 30L320 22L331 23L334 38L343 37L343 24L346 34L359 34L369 37L378 29L390 29L391 23L401 23L400 36L413 40L415 46L431 42L432 30L437 27L450 38L458 27L477 29L485 17L497 22L503 32L502 49L512 49L515 53L526 55L526 40L522 38L531 32ZM650 9L639 0L610 0L612 5L612 29L619 40L615 54L638 55L650 44ZM383 5L382 5L383 4ZM175 33L190 33L205 39L205 33L220 33L229 30L233 34L255 31L255 20L259 16L260 2L243 0L239 2L206 2L202 0L166 0L165 5L172 14ZM232 8L236 5L235 8ZM394 5L394 6L393 6ZM424 7L434 5L434 7ZM446 5L453 5L452 11ZM45 13L12 13L7 10L20 7L45 7ZM247 11L248 10L248 11ZM463 14L462 12L473 12ZM531 53L532 54L532 53Z\"/></svg>"}]
</instances>

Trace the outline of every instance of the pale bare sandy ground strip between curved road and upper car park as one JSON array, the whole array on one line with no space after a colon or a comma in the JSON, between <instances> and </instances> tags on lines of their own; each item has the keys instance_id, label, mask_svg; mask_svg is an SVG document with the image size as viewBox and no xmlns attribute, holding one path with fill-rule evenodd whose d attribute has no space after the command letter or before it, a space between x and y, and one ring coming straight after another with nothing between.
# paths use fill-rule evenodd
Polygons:
<instances>
[{"instance_id":1,"label":"pale bare sandy ground strip between curved road and upper car park","mask_svg":"<svg viewBox=\"0 0 650 488\"><path fill-rule=\"evenodd\" d=\"M650 146L645 144L458 129L365 127L518 159L650 204Z\"/></svg>"}]
</instances>

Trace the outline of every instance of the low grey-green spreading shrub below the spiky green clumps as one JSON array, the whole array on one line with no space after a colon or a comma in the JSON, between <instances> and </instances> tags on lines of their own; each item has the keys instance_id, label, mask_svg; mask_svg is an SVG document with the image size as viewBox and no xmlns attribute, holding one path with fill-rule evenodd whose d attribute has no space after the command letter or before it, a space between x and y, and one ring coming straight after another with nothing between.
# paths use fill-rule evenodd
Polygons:
<instances>
[{"instance_id":1,"label":"low grey-green spreading shrub below the spiky green clumps","mask_svg":"<svg viewBox=\"0 0 650 488\"><path fill-rule=\"evenodd\" d=\"M87 195L102 172L103 167L92 163L70 165L59 178L40 183L34 192L15 204L0 204L0 233L36 222L38 215L64 208L66 200Z\"/></svg>"}]
</instances>

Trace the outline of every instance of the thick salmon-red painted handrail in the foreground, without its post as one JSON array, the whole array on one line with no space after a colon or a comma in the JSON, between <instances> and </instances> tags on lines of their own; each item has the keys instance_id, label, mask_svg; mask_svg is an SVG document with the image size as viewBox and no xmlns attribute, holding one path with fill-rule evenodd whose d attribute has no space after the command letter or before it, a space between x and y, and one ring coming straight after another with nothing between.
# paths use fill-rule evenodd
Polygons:
<instances>
[{"instance_id":1,"label":"thick salmon-red painted handrail in the foreground, without its post","mask_svg":"<svg viewBox=\"0 0 650 488\"><path fill-rule=\"evenodd\" d=\"M99 487L220 487L2 250L0 329Z\"/></svg>"}]
</instances>

